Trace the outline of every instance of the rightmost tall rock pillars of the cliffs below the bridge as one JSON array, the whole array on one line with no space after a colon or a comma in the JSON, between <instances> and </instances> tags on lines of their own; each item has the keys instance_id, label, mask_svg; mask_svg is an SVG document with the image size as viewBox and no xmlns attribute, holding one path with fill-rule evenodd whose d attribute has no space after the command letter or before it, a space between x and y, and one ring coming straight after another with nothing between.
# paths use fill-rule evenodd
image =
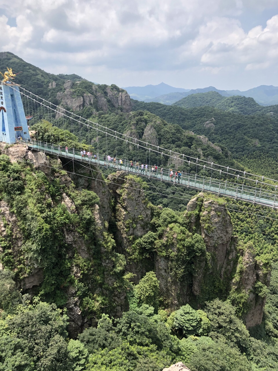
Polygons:
<instances>
[{"instance_id":1,"label":"rightmost tall rock pillars of the cliffs below the bridge","mask_svg":"<svg viewBox=\"0 0 278 371\"><path fill-rule=\"evenodd\" d=\"M185 217L190 230L200 233L206 244L207 262L193 279L192 291L200 295L220 288L238 305L246 327L262 322L271 269L259 260L251 243L244 246L233 236L231 216L222 200L208 200L203 193L192 198ZM207 265L207 267L206 267ZM208 283L212 283L210 286Z\"/></svg>"}]
</instances>

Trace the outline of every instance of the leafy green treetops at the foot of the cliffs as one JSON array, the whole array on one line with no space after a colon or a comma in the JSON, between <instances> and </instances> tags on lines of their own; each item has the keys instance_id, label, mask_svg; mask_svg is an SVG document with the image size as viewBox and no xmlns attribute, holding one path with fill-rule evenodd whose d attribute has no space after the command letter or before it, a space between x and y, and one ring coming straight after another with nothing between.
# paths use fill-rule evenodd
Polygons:
<instances>
[{"instance_id":1,"label":"leafy green treetops at the foot of the cliffs","mask_svg":"<svg viewBox=\"0 0 278 371\"><path fill-rule=\"evenodd\" d=\"M270 371L278 361L277 345L267 351L252 338L229 302L215 300L204 311L186 305L171 315L138 305L116 320L103 314L96 328L69 340L66 313L38 299L31 305L28 295L13 296L20 303L0 320L3 371L161 371L178 361L195 371Z\"/></svg>"}]
</instances>

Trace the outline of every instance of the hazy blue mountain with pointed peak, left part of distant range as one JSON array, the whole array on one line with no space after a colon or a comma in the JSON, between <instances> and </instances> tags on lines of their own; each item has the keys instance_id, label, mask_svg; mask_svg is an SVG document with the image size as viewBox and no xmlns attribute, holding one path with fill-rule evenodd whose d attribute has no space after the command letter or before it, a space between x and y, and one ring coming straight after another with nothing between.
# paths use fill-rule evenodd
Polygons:
<instances>
[{"instance_id":1,"label":"hazy blue mountain with pointed peak, left part of distant range","mask_svg":"<svg viewBox=\"0 0 278 371\"><path fill-rule=\"evenodd\" d=\"M153 98L173 92L188 92L190 89L174 88L173 86L167 85L161 82L158 85L146 85L146 86L128 86L125 89L131 98L137 99L138 101L150 102ZM182 98L183 96L181 96ZM178 98L177 100L181 99ZM148 100L150 99L150 100ZM175 101L176 102L176 101ZM173 102L172 102L173 103Z\"/></svg>"}]
</instances>

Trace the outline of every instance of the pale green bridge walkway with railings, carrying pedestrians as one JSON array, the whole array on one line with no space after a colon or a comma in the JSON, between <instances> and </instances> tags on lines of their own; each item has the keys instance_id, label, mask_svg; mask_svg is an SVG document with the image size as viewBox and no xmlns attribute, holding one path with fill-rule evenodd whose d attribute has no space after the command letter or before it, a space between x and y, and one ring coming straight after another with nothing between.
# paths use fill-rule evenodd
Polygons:
<instances>
[{"instance_id":1,"label":"pale green bridge walkway with railings, carrying pedestrians","mask_svg":"<svg viewBox=\"0 0 278 371\"><path fill-rule=\"evenodd\" d=\"M181 172L180 176L176 176L175 171L173 171L173 175L171 176L171 169L167 168L161 170L160 168L158 168L158 170L152 171L152 165L150 164L148 164L148 169L145 168L146 164L144 164L144 168L142 169L141 164L139 164L139 166L136 166L136 164L133 163L133 165L131 166L130 161L126 160L125 158L116 158L116 161L108 161L106 155L93 153L92 155L88 156L87 152L84 155L83 151L81 152L81 150L77 150L75 148L68 148L66 150L65 147L60 147L60 145L45 143L36 140L26 141L26 144L29 147L39 151L60 155L62 157L73 158L75 160L83 162L89 162L102 167L109 167L115 170L125 170L128 173L142 175L143 177L148 177L150 179L158 179L176 185L181 184L187 187L216 193L222 196L238 198L241 200L266 206L278 207L277 187L275 187L274 190L268 190L262 187L252 187L250 185L245 185L244 183L234 183L232 181L229 181L228 179L225 180L223 177L221 178L221 176L219 177L219 179L215 179L206 177L204 174L198 175L186 172ZM122 160L122 164L120 164L120 160Z\"/></svg>"}]
</instances>

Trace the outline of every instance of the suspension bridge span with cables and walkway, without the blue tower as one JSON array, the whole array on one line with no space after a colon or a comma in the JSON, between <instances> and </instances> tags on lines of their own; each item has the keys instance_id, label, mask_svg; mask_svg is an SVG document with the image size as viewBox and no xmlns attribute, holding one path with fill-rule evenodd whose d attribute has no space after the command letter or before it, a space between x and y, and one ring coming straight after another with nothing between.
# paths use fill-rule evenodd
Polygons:
<instances>
[{"instance_id":1,"label":"suspension bridge span with cables and walkway, without the blue tower","mask_svg":"<svg viewBox=\"0 0 278 371\"><path fill-rule=\"evenodd\" d=\"M24 141L32 150L278 208L277 180L159 147L78 116L24 88L20 93L32 124L44 119L58 128L52 134L37 128Z\"/></svg>"}]
</instances>

